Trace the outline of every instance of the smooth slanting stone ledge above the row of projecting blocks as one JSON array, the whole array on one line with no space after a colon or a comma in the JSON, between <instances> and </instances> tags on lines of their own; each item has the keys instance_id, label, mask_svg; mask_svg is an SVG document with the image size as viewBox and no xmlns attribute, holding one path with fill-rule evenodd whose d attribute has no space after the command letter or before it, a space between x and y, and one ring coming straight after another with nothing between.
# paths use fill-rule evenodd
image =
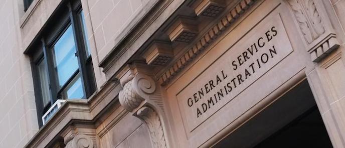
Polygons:
<instances>
[{"instance_id":1,"label":"smooth slanting stone ledge above the row of projecting blocks","mask_svg":"<svg viewBox=\"0 0 345 148\"><path fill-rule=\"evenodd\" d=\"M183 3L184 1L158 1L152 5L151 11L133 26L135 30L131 29L116 39L117 44L99 63L99 66L104 68L107 79L112 77Z\"/></svg>"}]
</instances>

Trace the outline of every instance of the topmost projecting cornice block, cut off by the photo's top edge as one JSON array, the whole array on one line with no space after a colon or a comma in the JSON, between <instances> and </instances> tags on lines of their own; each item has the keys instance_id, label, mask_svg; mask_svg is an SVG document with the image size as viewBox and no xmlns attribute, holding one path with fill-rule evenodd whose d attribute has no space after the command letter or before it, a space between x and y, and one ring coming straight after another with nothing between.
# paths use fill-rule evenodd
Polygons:
<instances>
[{"instance_id":1,"label":"topmost projecting cornice block, cut off by the photo's top edge","mask_svg":"<svg viewBox=\"0 0 345 148\"><path fill-rule=\"evenodd\" d=\"M197 16L214 18L223 10L224 10L223 0L203 0L195 8L195 13L197 14Z\"/></svg>"}]
</instances>

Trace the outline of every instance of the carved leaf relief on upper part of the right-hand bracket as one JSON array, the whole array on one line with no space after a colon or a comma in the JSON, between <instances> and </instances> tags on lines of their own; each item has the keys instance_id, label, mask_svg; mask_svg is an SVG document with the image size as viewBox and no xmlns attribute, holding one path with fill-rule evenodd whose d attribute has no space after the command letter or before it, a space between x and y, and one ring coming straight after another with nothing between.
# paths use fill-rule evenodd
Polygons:
<instances>
[{"instance_id":1,"label":"carved leaf relief on upper part of the right-hand bracket","mask_svg":"<svg viewBox=\"0 0 345 148\"><path fill-rule=\"evenodd\" d=\"M288 1L307 43L311 43L325 32L321 17L313 0Z\"/></svg>"}]
</instances>

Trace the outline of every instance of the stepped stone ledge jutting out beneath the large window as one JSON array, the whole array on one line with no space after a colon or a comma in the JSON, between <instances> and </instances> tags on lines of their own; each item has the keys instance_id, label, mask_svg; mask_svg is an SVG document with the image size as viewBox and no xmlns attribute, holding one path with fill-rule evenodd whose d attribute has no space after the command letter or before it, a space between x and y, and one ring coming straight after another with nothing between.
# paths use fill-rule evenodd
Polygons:
<instances>
[{"instance_id":1,"label":"stepped stone ledge jutting out beneath the large window","mask_svg":"<svg viewBox=\"0 0 345 148\"><path fill-rule=\"evenodd\" d=\"M67 125L73 122L95 122L96 118L101 117L100 113L104 111L106 106L117 100L116 96L119 90L118 82L108 82L88 100L67 100L25 147L46 146Z\"/></svg>"}]
</instances>

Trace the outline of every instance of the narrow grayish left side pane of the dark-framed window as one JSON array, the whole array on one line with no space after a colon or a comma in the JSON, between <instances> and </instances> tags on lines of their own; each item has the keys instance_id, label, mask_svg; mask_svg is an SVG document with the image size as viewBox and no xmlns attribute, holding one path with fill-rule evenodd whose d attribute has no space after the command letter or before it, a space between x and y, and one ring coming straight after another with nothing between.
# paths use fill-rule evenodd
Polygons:
<instances>
[{"instance_id":1,"label":"narrow grayish left side pane of the dark-framed window","mask_svg":"<svg viewBox=\"0 0 345 148\"><path fill-rule=\"evenodd\" d=\"M46 106L50 102L48 71L46 67L46 60L43 59L38 64L43 106Z\"/></svg>"}]
</instances>

